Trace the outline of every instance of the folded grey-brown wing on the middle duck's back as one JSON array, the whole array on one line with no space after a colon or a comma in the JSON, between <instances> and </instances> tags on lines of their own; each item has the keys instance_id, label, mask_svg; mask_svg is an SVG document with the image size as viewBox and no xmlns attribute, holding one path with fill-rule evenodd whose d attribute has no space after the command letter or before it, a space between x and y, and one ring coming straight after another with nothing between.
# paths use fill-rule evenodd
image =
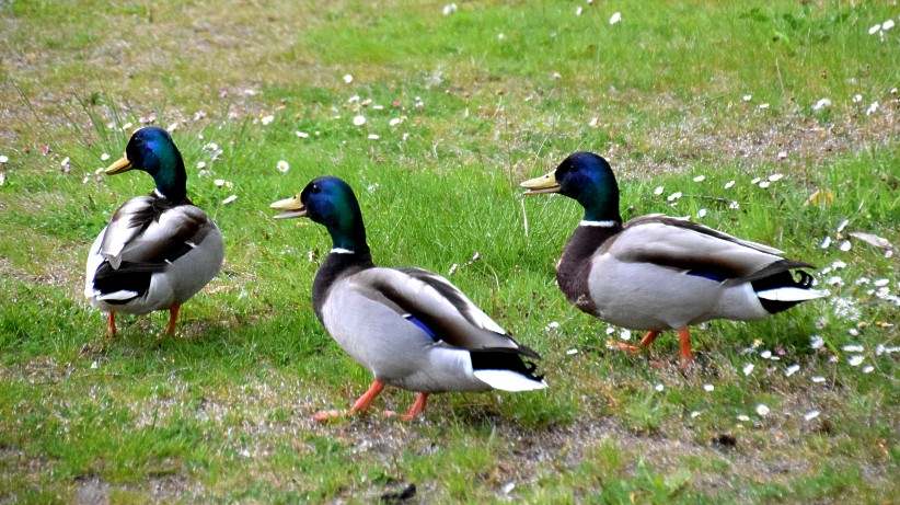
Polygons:
<instances>
[{"instance_id":1,"label":"folded grey-brown wing on the middle duck's back","mask_svg":"<svg viewBox=\"0 0 900 505\"><path fill-rule=\"evenodd\" d=\"M350 286L396 311L435 341L470 351L510 349L538 358L517 343L446 278L420 268L367 268Z\"/></svg>"}]
</instances>

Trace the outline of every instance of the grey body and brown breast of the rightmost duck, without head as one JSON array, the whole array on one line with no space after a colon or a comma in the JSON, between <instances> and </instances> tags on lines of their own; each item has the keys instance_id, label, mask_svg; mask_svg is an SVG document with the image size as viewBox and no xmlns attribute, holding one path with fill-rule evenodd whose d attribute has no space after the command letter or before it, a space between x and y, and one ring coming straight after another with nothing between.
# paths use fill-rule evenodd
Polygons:
<instances>
[{"instance_id":1,"label":"grey body and brown breast of the rightmost duck, without head","mask_svg":"<svg viewBox=\"0 0 900 505\"><path fill-rule=\"evenodd\" d=\"M803 266L809 265L766 245L685 220L645 216L624 226L579 226L557 280L586 312L624 328L661 331L719 318L759 319L793 305L761 299L766 279L820 296L807 285L791 287L788 271Z\"/></svg>"}]
</instances>

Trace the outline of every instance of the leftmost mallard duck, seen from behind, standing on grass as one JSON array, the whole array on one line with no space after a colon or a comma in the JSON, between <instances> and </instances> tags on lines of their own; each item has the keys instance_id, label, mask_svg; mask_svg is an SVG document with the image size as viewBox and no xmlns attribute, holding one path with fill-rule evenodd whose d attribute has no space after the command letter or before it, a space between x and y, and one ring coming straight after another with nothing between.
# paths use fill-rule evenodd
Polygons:
<instances>
[{"instance_id":1,"label":"leftmost mallard duck, seen from behind, standing on grass","mask_svg":"<svg viewBox=\"0 0 900 505\"><path fill-rule=\"evenodd\" d=\"M116 334L116 312L145 314L169 310L165 332L173 334L182 303L206 286L222 266L219 228L187 198L182 154L162 128L141 128L107 175L129 170L149 173L157 187L119 207L91 245L84 296L107 312Z\"/></svg>"}]
</instances>

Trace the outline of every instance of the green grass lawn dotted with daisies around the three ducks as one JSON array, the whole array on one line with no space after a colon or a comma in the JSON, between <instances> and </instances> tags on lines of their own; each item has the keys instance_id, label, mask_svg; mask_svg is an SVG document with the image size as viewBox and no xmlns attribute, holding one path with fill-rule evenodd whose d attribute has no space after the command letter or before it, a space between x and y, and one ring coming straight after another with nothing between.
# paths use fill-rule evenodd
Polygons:
<instances>
[{"instance_id":1,"label":"green grass lawn dotted with daisies around the three ducks","mask_svg":"<svg viewBox=\"0 0 900 505\"><path fill-rule=\"evenodd\" d=\"M896 294L897 257L838 243L850 231L900 243L900 33L867 33L897 12L478 1L443 16L442 5L0 3L0 501L365 503L415 483L427 503L890 502L897 358L876 347L898 345L900 311L855 280L887 278ZM832 105L812 111L821 97ZM151 314L124 318L106 341L81 296L84 256L151 182L93 172L122 152L123 126L150 114L177 122L191 196L223 230L227 263L185 306L177 337L159 336L165 315ZM215 161L208 142L222 149ZM611 160L626 218L706 209L701 222L792 257L845 262L818 276L844 285L765 321L696 329L693 374L678 370L671 335L648 356L607 351L607 324L568 306L553 277L577 206L517 188L576 149ZM377 262L458 265L453 283L544 356L551 389L435 397L412 425L312 423L370 377L311 310L327 234L274 221L267 206L325 173L356 188ZM785 177L751 184L773 173ZM805 205L816 190L833 203ZM814 334L824 348L810 348ZM865 347L863 366L849 365L847 344ZM391 390L378 406L411 401Z\"/></svg>"}]
</instances>

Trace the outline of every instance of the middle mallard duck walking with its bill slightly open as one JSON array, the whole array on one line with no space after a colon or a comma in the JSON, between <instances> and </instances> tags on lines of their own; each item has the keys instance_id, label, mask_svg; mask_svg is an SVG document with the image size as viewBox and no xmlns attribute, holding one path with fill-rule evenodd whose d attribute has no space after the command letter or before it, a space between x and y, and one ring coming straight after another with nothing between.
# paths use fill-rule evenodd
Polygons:
<instances>
[{"instance_id":1,"label":"middle mallard duck walking with its bill slightly open","mask_svg":"<svg viewBox=\"0 0 900 505\"><path fill-rule=\"evenodd\" d=\"M272 208L282 210L277 219L307 217L328 230L333 248L315 274L313 310L374 376L348 412L322 411L316 421L365 411L384 386L416 392L404 421L419 415L434 392L546 388L527 360L538 353L517 343L449 280L422 268L372 263L362 213L346 182L315 179Z\"/></svg>"}]
</instances>

